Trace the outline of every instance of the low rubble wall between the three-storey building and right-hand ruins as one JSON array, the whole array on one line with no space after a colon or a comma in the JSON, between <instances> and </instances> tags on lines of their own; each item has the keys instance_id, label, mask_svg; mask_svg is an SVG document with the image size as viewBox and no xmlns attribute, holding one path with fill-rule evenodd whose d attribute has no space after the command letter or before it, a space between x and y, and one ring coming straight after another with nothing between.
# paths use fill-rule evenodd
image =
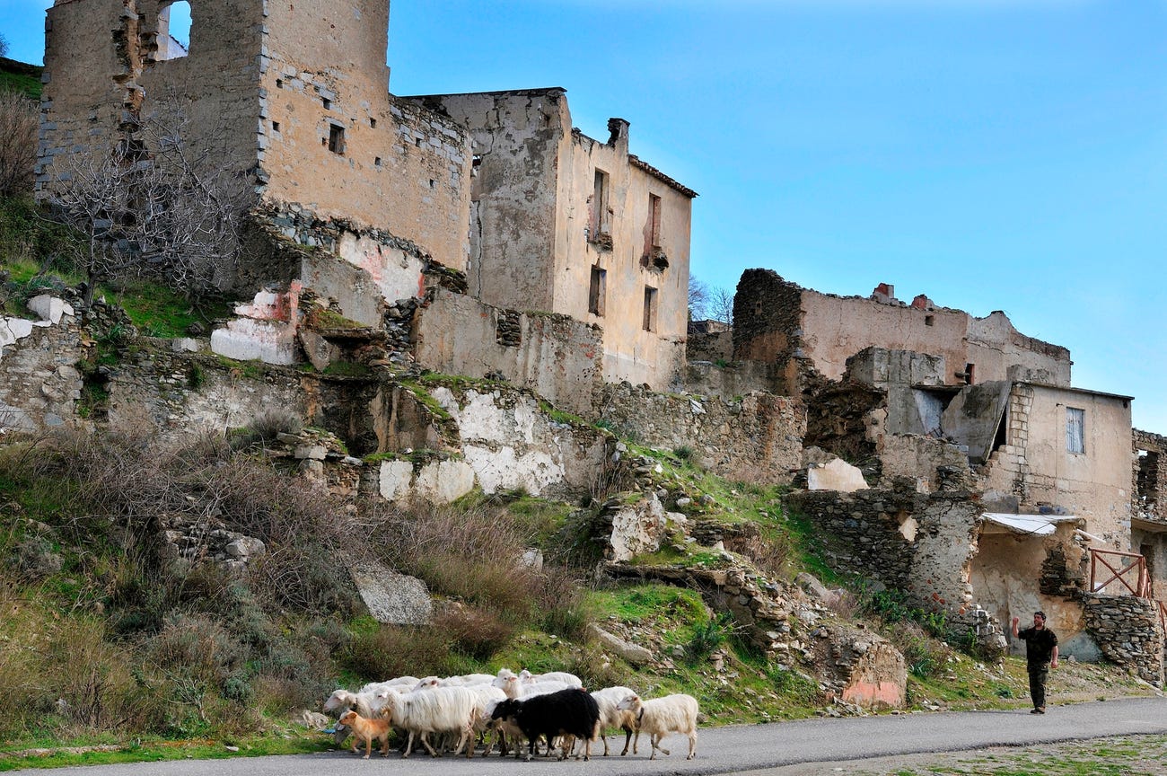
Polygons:
<instances>
[{"instance_id":1,"label":"low rubble wall between the three-storey building and right-hand ruins","mask_svg":"<svg viewBox=\"0 0 1167 776\"><path fill-rule=\"evenodd\" d=\"M787 397L727 400L606 384L596 399L600 422L652 447L689 447L703 467L731 480L787 484L801 464L805 418Z\"/></svg>"}]
</instances>

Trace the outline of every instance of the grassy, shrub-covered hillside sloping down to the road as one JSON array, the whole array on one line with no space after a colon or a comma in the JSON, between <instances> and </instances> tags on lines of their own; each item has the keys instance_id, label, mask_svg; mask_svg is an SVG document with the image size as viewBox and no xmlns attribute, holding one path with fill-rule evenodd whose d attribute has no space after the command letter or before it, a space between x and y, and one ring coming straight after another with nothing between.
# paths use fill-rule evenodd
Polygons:
<instances>
[{"instance_id":1,"label":"grassy, shrub-covered hillside sloping down to the road","mask_svg":"<svg viewBox=\"0 0 1167 776\"><path fill-rule=\"evenodd\" d=\"M0 203L5 315L28 315L29 296L78 282L72 239L28 202ZM191 322L182 298L159 285L100 293L141 335L181 335ZM131 330L86 336L92 363L83 371L168 347ZM85 396L82 406L100 401ZM524 492L440 509L344 504L270 455L277 434L298 425L273 413L181 445L99 428L0 436L0 770L28 764L18 753L37 747L85 751L36 761L56 764L214 756L224 744L252 754L328 747L294 719L336 687L503 666L568 670L593 687L687 692L708 725L829 713L813 666L767 660L697 592L596 576L596 518L606 501L629 497L620 483L586 506ZM985 666L894 593L836 576L809 526L783 513L780 489L715 477L689 448L626 442L659 463L662 484L694 496L692 519L756 529L750 557L734 562L770 579L809 569L850 586L822 616L862 617L892 638L908 658L914 708L1022 702L1020 663ZM160 541L175 520L257 537L266 554L244 573L175 562ZM543 568L517 562L529 547L541 551ZM422 579L436 601L433 623L375 622L347 572L358 560ZM683 544L641 561L710 567L726 558ZM649 648L652 659L633 665L602 650L591 624ZM1112 673L1084 677L1083 693L1125 688Z\"/></svg>"}]
</instances>

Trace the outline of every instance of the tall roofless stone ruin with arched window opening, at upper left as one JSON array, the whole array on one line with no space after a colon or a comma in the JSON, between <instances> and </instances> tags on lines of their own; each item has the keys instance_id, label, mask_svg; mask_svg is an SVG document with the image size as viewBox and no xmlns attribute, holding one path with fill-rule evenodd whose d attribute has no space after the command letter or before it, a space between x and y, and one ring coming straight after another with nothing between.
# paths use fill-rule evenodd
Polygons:
<instances>
[{"instance_id":1,"label":"tall roofless stone ruin with arched window opening, at upper left","mask_svg":"<svg viewBox=\"0 0 1167 776\"><path fill-rule=\"evenodd\" d=\"M186 54L169 44L169 0L49 9L42 196L74 158L148 154L139 123L156 121L252 179L268 203L382 229L466 267L469 138L389 95L387 4L205 0L191 11Z\"/></svg>"}]
</instances>

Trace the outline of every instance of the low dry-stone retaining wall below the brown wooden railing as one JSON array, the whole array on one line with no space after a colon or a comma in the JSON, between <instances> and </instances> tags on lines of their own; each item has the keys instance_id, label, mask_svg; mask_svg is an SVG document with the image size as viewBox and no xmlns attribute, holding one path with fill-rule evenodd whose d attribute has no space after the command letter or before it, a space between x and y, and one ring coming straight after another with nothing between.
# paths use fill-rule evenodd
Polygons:
<instances>
[{"instance_id":1,"label":"low dry-stone retaining wall below the brown wooden railing","mask_svg":"<svg viewBox=\"0 0 1167 776\"><path fill-rule=\"evenodd\" d=\"M1086 593L1086 628L1107 659L1156 687L1163 684L1163 631L1154 601L1133 595Z\"/></svg>"}]
</instances>

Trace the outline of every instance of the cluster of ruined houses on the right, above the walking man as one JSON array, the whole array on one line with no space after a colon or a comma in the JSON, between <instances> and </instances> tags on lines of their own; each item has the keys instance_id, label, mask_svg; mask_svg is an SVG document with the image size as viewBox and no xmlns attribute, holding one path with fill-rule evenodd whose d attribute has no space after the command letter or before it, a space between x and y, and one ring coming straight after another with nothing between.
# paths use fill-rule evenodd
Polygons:
<instances>
[{"instance_id":1,"label":"cluster of ruined houses on the right, above the walking man","mask_svg":"<svg viewBox=\"0 0 1167 776\"><path fill-rule=\"evenodd\" d=\"M862 467L811 455L809 490L790 499L837 538L841 565L978 636L1043 609L1081 659L1121 662L1097 623L1126 594L1146 636L1133 662L1161 681L1162 439L1134 432L1133 455L1131 397L1071 387L1069 351L1004 313L909 305L887 285L822 294L767 270L738 287L733 356L803 399L809 448Z\"/></svg>"}]
</instances>

